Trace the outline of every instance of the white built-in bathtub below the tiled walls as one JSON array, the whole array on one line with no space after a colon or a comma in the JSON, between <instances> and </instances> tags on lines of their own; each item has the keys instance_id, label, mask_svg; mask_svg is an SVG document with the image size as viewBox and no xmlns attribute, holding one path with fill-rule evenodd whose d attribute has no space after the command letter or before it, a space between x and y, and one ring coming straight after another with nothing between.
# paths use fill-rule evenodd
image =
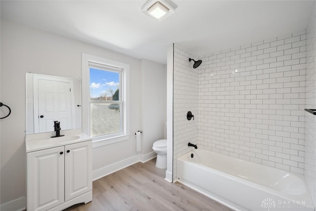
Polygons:
<instances>
[{"instance_id":1,"label":"white built-in bathtub below the tiled walls","mask_svg":"<svg viewBox=\"0 0 316 211\"><path fill-rule=\"evenodd\" d=\"M315 210L304 176L207 150L178 158L177 177L234 210Z\"/></svg>"}]
</instances>

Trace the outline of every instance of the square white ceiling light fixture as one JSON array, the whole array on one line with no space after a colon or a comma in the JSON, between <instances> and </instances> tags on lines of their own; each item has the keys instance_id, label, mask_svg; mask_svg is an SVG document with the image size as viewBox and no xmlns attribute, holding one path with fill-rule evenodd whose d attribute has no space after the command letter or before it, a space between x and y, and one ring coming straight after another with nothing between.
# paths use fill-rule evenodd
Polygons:
<instances>
[{"instance_id":1,"label":"square white ceiling light fixture","mask_svg":"<svg viewBox=\"0 0 316 211\"><path fill-rule=\"evenodd\" d=\"M170 3L170 1L167 2L166 0L148 0L142 6L142 11L160 21L174 12L175 5L171 5Z\"/></svg>"}]
</instances>

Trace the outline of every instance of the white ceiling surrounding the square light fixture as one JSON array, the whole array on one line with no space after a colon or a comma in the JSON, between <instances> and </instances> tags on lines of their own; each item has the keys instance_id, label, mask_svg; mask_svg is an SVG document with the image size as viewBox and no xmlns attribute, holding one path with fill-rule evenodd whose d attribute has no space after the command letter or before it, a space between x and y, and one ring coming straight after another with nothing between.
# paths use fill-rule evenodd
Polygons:
<instances>
[{"instance_id":1,"label":"white ceiling surrounding the square light fixture","mask_svg":"<svg viewBox=\"0 0 316 211\"><path fill-rule=\"evenodd\" d=\"M158 22L142 13L146 0L1 0L1 18L139 59L166 63L178 43L202 56L242 44L301 32L313 7L308 0L173 0Z\"/></svg>"}]
</instances>

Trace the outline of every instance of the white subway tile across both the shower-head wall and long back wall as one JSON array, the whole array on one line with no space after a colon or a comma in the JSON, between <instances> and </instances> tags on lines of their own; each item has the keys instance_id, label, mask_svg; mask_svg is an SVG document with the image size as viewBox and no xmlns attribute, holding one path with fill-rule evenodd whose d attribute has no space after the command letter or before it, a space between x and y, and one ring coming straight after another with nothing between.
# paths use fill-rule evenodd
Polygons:
<instances>
[{"instance_id":1,"label":"white subway tile across both the shower-head wall and long back wall","mask_svg":"<svg viewBox=\"0 0 316 211\"><path fill-rule=\"evenodd\" d=\"M174 179L189 141L303 174L306 32L191 56L174 47Z\"/></svg>"}]
</instances>

